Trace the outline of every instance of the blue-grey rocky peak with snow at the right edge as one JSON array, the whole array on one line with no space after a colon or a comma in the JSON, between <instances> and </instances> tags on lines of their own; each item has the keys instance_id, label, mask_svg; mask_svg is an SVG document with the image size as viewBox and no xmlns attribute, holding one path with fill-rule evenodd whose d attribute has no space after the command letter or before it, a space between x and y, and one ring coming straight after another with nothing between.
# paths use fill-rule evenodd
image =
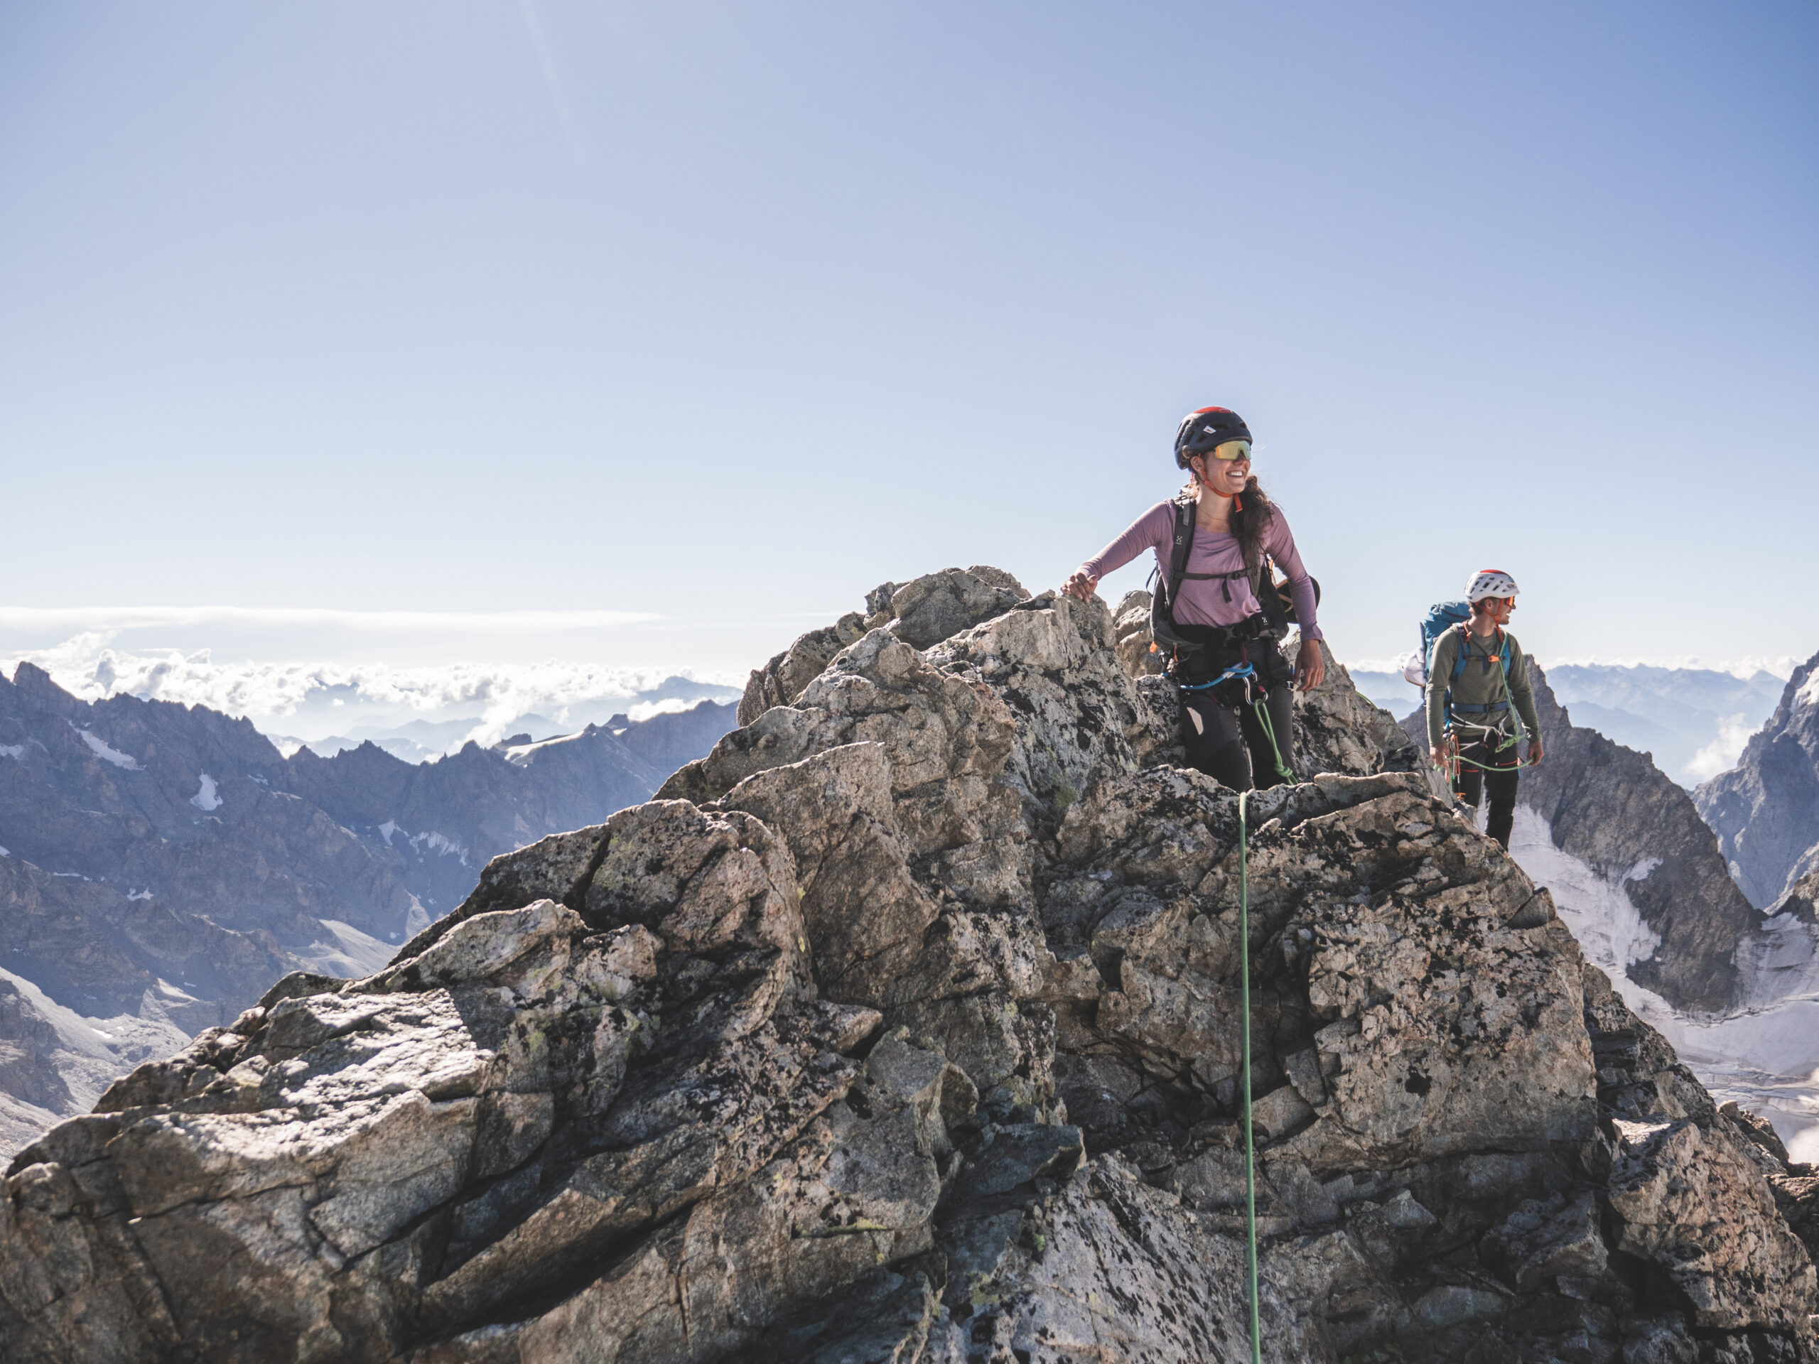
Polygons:
<instances>
[{"instance_id":1,"label":"blue-grey rocky peak with snow at the right edge","mask_svg":"<svg viewBox=\"0 0 1819 1364\"><path fill-rule=\"evenodd\" d=\"M1743 758L1695 800L1752 904L1774 904L1819 868L1819 655L1794 669Z\"/></svg>"}]
</instances>

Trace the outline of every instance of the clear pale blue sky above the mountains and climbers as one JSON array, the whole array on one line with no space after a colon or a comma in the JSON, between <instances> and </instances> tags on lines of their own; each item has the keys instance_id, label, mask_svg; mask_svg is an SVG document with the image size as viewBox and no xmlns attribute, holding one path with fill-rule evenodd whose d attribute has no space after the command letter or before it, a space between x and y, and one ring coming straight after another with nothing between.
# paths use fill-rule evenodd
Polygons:
<instances>
[{"instance_id":1,"label":"clear pale blue sky above the mountains and climbers","mask_svg":"<svg viewBox=\"0 0 1819 1364\"><path fill-rule=\"evenodd\" d=\"M4 5L0 653L737 671L1057 584L1221 402L1341 657L1482 566L1543 658L1804 657L1815 69L1804 0Z\"/></svg>"}]
</instances>

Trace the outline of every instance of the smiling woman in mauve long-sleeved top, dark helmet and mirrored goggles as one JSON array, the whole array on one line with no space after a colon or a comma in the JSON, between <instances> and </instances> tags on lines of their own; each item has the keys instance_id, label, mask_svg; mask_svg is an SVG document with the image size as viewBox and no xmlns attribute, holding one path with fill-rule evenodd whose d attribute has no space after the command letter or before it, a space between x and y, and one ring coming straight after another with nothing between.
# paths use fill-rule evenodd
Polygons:
<instances>
[{"instance_id":1,"label":"smiling woman in mauve long-sleeved top, dark helmet and mirrored goggles","mask_svg":"<svg viewBox=\"0 0 1819 1364\"><path fill-rule=\"evenodd\" d=\"M1188 413L1175 431L1175 464L1191 476L1068 578L1082 602L1099 580L1144 549L1155 551L1150 629L1181 689L1188 762L1244 791L1295 780L1291 689L1321 686L1319 584L1295 551L1282 509L1251 475L1251 435L1226 407ZM1288 575L1290 609L1273 564ZM1297 667L1277 640L1301 624Z\"/></svg>"}]
</instances>

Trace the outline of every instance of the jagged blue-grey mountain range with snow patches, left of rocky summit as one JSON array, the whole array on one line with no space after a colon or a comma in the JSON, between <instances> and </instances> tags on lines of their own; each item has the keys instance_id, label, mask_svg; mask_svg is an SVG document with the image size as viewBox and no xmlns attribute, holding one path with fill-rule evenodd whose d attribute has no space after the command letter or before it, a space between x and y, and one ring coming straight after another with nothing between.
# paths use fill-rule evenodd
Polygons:
<instances>
[{"instance_id":1,"label":"jagged blue-grey mountain range with snow patches, left of rocky summit","mask_svg":"<svg viewBox=\"0 0 1819 1364\"><path fill-rule=\"evenodd\" d=\"M406 762L0 675L0 1148L293 969L366 975L498 853L642 800L733 706Z\"/></svg>"}]
</instances>

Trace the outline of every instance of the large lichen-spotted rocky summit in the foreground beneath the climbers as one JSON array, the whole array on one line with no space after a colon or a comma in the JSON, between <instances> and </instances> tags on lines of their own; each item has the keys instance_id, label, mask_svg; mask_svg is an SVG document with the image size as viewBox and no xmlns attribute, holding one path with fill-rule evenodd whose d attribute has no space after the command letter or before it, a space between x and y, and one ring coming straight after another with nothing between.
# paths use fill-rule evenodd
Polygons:
<instances>
[{"instance_id":1,"label":"large lichen-spotted rocky summit in the foreground beneath the climbers","mask_svg":"<svg viewBox=\"0 0 1819 1364\"><path fill-rule=\"evenodd\" d=\"M20 1151L0 1357L1246 1360L1244 953L1264 1359L1815 1357L1810 1171L1341 667L1241 802L1097 600L853 615Z\"/></svg>"}]
</instances>

